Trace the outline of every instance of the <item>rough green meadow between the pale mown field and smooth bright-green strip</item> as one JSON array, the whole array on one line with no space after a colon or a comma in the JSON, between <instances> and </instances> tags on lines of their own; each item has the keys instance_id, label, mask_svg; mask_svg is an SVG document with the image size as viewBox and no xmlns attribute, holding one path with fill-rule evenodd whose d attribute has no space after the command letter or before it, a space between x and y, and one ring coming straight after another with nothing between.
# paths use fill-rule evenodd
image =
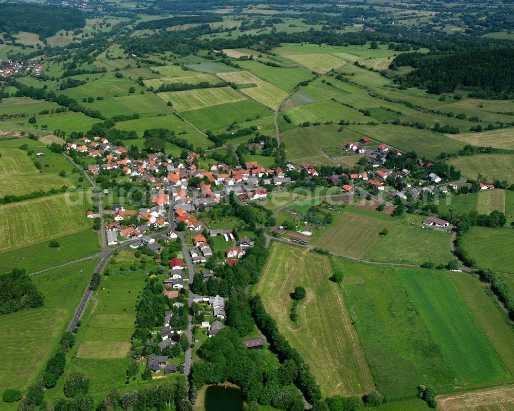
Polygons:
<instances>
[{"instance_id":1,"label":"rough green meadow between the pale mown field and smooth bright-green strip","mask_svg":"<svg viewBox=\"0 0 514 411\"><path fill-rule=\"evenodd\" d=\"M332 261L379 392L398 400L413 398L416 384L452 388L453 374L393 267Z\"/></svg>"}]
</instances>

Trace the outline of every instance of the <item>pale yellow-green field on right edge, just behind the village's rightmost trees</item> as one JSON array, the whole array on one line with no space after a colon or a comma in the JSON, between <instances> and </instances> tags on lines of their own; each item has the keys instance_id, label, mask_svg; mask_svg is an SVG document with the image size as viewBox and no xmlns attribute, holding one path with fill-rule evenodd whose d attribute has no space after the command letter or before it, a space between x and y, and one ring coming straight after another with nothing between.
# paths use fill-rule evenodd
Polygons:
<instances>
[{"instance_id":1,"label":"pale yellow-green field on right edge, just behind the village's rightmost trees","mask_svg":"<svg viewBox=\"0 0 514 411\"><path fill-rule=\"evenodd\" d=\"M498 179L514 183L514 154L479 154L452 158L447 163L461 170L465 177L476 178L482 173L491 182Z\"/></svg>"}]
</instances>

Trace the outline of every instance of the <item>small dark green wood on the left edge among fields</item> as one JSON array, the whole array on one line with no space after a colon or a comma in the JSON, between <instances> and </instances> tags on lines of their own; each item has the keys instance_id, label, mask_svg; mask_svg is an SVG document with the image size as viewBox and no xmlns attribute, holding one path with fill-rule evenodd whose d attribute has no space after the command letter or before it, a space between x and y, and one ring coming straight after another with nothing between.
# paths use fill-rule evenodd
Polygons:
<instances>
[{"instance_id":1,"label":"small dark green wood on the left edge among fields","mask_svg":"<svg viewBox=\"0 0 514 411\"><path fill-rule=\"evenodd\" d=\"M14 269L0 276L0 314L41 307L44 299L25 270Z\"/></svg>"}]
</instances>

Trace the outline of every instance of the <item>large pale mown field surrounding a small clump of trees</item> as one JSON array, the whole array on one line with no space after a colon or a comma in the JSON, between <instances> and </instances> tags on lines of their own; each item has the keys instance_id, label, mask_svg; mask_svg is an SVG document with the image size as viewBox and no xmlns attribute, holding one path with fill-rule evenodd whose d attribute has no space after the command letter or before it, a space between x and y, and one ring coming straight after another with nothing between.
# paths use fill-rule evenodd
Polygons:
<instances>
[{"instance_id":1,"label":"large pale mown field surrounding a small clump of trees","mask_svg":"<svg viewBox=\"0 0 514 411\"><path fill-rule=\"evenodd\" d=\"M328 278L327 257L306 249L273 244L255 292L279 330L310 366L323 395L362 395L375 388L368 363L351 323L343 294ZM298 323L289 319L289 293L307 292L298 307Z\"/></svg>"}]
</instances>

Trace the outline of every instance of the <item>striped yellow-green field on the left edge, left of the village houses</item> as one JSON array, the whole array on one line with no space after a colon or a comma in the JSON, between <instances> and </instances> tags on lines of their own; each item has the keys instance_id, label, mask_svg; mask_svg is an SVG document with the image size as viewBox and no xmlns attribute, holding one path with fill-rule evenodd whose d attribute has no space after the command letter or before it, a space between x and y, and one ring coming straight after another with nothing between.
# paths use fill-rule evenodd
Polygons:
<instances>
[{"instance_id":1,"label":"striped yellow-green field on the left edge, left of the village houses","mask_svg":"<svg viewBox=\"0 0 514 411\"><path fill-rule=\"evenodd\" d=\"M68 201L71 200L71 201ZM73 234L89 227L86 207L70 193L0 206L0 250Z\"/></svg>"}]
</instances>

